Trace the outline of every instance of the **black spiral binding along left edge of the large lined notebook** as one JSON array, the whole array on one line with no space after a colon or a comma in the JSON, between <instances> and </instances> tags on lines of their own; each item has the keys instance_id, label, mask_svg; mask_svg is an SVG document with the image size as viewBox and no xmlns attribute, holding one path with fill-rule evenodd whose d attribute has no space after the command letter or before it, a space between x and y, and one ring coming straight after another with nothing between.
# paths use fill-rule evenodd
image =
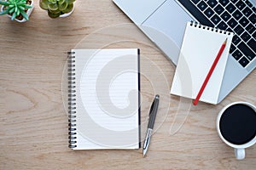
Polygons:
<instances>
[{"instance_id":1,"label":"black spiral binding along left edge of the large lined notebook","mask_svg":"<svg viewBox=\"0 0 256 170\"><path fill-rule=\"evenodd\" d=\"M75 87L75 53L67 52L67 105L68 105L68 139L69 148L76 148L76 87Z\"/></svg>"}]
</instances>

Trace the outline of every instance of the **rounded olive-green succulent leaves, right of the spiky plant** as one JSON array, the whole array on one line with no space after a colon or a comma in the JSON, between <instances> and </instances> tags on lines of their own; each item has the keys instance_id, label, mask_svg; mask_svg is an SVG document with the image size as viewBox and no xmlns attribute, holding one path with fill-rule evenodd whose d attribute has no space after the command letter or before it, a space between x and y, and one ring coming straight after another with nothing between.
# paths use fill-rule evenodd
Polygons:
<instances>
[{"instance_id":1,"label":"rounded olive-green succulent leaves, right of the spiky plant","mask_svg":"<svg viewBox=\"0 0 256 170\"><path fill-rule=\"evenodd\" d=\"M40 7L48 11L50 18L57 18L61 14L72 11L75 0L40 0Z\"/></svg>"}]
</instances>

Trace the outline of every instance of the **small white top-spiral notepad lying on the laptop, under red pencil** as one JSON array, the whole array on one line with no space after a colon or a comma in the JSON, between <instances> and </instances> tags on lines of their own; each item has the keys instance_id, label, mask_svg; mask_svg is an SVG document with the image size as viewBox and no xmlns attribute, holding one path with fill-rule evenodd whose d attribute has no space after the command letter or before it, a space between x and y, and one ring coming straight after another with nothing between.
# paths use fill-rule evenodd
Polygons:
<instances>
[{"instance_id":1,"label":"small white top-spiral notepad lying on the laptop, under red pencil","mask_svg":"<svg viewBox=\"0 0 256 170\"><path fill-rule=\"evenodd\" d=\"M200 99L200 101L216 105L232 37L232 32L188 22L172 81L171 94L195 99L221 45L228 38L224 52Z\"/></svg>"}]
</instances>

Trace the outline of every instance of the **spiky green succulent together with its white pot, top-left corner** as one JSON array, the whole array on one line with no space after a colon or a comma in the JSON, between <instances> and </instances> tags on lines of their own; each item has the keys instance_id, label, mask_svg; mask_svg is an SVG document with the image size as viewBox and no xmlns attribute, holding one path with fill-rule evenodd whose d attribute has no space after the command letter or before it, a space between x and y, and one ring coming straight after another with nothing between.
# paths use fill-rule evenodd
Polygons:
<instances>
[{"instance_id":1,"label":"spiky green succulent together with its white pot, top-left corner","mask_svg":"<svg viewBox=\"0 0 256 170\"><path fill-rule=\"evenodd\" d=\"M11 20L25 22L29 20L29 16L33 9L33 0L0 0L0 15L8 14Z\"/></svg>"}]
</instances>

